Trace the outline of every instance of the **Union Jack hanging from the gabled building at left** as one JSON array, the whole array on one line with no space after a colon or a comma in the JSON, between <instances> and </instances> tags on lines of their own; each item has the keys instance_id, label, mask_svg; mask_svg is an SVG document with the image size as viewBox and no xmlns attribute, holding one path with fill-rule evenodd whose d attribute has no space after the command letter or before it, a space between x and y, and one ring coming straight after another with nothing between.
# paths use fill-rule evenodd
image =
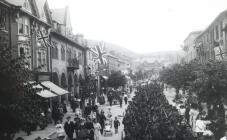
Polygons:
<instances>
[{"instance_id":1,"label":"Union Jack hanging from the gabled building at left","mask_svg":"<svg viewBox=\"0 0 227 140\"><path fill-rule=\"evenodd\" d=\"M48 34L45 34L42 31L36 31L36 39L37 39L37 42L39 42L44 47L51 46Z\"/></svg>"}]
</instances>

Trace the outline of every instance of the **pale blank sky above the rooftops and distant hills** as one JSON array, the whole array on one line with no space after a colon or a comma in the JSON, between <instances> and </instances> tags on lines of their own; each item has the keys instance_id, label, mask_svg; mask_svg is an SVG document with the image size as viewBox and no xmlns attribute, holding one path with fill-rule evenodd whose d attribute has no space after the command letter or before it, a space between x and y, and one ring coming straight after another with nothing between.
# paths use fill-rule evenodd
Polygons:
<instances>
[{"instance_id":1,"label":"pale blank sky above the rooftops and distant hills","mask_svg":"<svg viewBox=\"0 0 227 140\"><path fill-rule=\"evenodd\" d=\"M74 34L136 53L180 50L192 31L204 30L227 0L48 0L69 6Z\"/></svg>"}]
</instances>

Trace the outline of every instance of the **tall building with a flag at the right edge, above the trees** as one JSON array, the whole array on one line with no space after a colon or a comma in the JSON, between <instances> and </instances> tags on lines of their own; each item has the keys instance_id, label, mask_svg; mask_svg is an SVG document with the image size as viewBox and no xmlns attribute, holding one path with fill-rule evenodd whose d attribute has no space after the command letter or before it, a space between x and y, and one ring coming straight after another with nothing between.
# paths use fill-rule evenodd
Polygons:
<instances>
[{"instance_id":1,"label":"tall building with a flag at the right edge, above the trees","mask_svg":"<svg viewBox=\"0 0 227 140\"><path fill-rule=\"evenodd\" d=\"M227 10L220 13L214 21L195 39L197 59L201 63L209 60L226 60L227 50Z\"/></svg>"}]
</instances>

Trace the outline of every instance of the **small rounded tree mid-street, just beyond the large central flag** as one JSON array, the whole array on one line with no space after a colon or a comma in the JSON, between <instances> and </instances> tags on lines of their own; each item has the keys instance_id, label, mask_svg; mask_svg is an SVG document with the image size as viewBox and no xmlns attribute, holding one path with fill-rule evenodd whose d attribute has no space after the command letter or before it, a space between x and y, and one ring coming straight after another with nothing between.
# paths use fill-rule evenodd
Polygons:
<instances>
[{"instance_id":1,"label":"small rounded tree mid-street, just beyond the large central flag","mask_svg":"<svg viewBox=\"0 0 227 140\"><path fill-rule=\"evenodd\" d=\"M120 71L111 73L108 79L108 86L118 88L126 84L126 77Z\"/></svg>"}]
</instances>

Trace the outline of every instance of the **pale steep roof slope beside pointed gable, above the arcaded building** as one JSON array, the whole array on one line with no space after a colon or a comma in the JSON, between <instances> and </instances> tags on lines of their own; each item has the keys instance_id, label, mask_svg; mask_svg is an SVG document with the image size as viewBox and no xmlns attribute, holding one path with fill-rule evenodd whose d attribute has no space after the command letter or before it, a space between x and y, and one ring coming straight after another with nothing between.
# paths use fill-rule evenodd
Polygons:
<instances>
[{"instance_id":1,"label":"pale steep roof slope beside pointed gable, above the arcaded building","mask_svg":"<svg viewBox=\"0 0 227 140\"><path fill-rule=\"evenodd\" d=\"M66 8L51 9L52 19L59 24L65 24Z\"/></svg>"}]
</instances>

